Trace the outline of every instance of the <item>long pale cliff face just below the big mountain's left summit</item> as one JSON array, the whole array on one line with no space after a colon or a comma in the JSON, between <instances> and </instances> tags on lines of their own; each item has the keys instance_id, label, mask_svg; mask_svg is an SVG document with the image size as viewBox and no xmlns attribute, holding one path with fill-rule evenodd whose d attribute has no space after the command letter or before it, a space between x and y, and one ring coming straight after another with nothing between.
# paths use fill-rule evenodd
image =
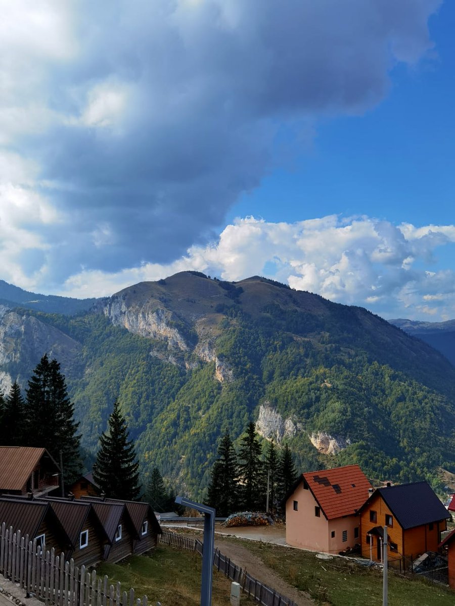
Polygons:
<instances>
[{"instance_id":1,"label":"long pale cliff face just below the big mountain's left summit","mask_svg":"<svg viewBox=\"0 0 455 606\"><path fill-rule=\"evenodd\" d=\"M103 305L103 313L115 326L122 326L136 335L165 339L169 348L188 351L189 345L175 326L172 311L161 307L127 307L120 297L112 297Z\"/></svg>"}]
</instances>

